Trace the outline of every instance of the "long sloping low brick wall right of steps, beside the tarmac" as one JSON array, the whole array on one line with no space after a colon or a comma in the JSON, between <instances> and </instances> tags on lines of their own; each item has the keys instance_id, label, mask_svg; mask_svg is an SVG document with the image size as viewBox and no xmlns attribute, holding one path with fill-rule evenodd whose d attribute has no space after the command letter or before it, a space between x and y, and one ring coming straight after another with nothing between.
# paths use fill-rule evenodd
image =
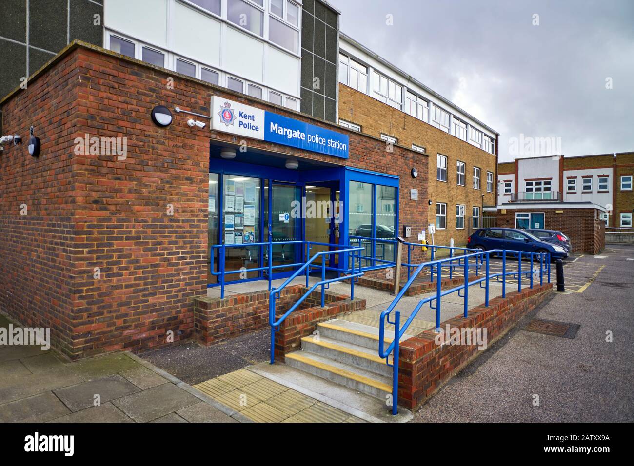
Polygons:
<instances>
[{"instance_id":1,"label":"long sloping low brick wall right of steps, beside the tarmac","mask_svg":"<svg viewBox=\"0 0 634 466\"><path fill-rule=\"evenodd\" d=\"M552 292L552 283L507 293L474 307L465 319L462 314L446 320L441 328L487 328L488 346L504 335L517 321L534 309ZM398 403L416 409L432 396L456 372L481 352L477 344L436 344L437 333L426 330L404 342L399 352Z\"/></svg>"}]
</instances>

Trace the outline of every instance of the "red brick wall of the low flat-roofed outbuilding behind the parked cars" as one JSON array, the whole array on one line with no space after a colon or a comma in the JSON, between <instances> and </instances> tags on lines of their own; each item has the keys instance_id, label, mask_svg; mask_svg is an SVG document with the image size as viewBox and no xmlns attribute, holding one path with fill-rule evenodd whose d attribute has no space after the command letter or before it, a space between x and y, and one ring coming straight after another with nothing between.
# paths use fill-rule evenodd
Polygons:
<instances>
[{"instance_id":1,"label":"red brick wall of the low flat-roofed outbuilding behind the parked cars","mask_svg":"<svg viewBox=\"0 0 634 466\"><path fill-rule=\"evenodd\" d=\"M541 209L539 204L531 209L498 209L497 226L515 228L516 212L544 212L544 228L563 231L573 243L573 252L597 254L605 247L605 224L597 219L597 209Z\"/></svg>"}]
</instances>

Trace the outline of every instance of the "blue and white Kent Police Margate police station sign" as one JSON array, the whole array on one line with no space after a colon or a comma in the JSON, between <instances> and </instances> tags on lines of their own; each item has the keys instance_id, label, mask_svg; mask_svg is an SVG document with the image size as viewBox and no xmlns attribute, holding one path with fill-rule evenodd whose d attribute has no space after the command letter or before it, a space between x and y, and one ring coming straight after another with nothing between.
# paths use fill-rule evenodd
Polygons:
<instances>
[{"instance_id":1,"label":"blue and white Kent Police Margate police station sign","mask_svg":"<svg viewBox=\"0 0 634 466\"><path fill-rule=\"evenodd\" d=\"M347 134L218 96L211 99L211 115L216 131L348 158Z\"/></svg>"}]
</instances>

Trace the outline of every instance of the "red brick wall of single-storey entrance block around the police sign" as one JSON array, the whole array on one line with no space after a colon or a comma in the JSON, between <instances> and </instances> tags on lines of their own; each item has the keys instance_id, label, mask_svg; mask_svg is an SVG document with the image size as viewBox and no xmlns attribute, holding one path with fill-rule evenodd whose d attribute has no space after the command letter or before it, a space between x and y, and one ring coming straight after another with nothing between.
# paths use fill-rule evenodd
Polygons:
<instances>
[{"instance_id":1,"label":"red brick wall of single-storey entrance block around the police sign","mask_svg":"<svg viewBox=\"0 0 634 466\"><path fill-rule=\"evenodd\" d=\"M0 155L0 306L25 323L53 327L71 358L145 349L193 335L193 299L207 285L209 141L235 136L190 128L174 114L152 124L155 105L209 114L212 94L315 122L262 101L84 45L71 45L28 89L3 101L4 128L42 139ZM167 79L174 79L173 86ZM27 117L25 117L27 115ZM338 126L321 123L335 131ZM127 159L75 153L75 138L126 137ZM401 177L400 222L427 223L427 157L349 132L346 164ZM341 164L336 157L264 141L249 147ZM409 176L417 167L419 176ZM418 189L418 201L410 200ZM19 206L29 205L29 216ZM173 215L167 214L168 204ZM93 278L94 268L101 276Z\"/></svg>"}]
</instances>

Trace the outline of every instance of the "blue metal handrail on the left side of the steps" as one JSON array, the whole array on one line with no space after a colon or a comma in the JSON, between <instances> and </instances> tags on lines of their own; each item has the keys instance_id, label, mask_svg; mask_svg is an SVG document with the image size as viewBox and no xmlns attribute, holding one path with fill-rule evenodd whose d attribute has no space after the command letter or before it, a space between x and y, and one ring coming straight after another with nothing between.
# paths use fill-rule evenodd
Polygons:
<instances>
[{"instance_id":1,"label":"blue metal handrail on the left side of the steps","mask_svg":"<svg viewBox=\"0 0 634 466\"><path fill-rule=\"evenodd\" d=\"M318 244L320 244L320 243L318 243ZM323 243L321 243L321 244L323 244ZM302 304L302 302L304 302L304 299L306 299L313 292L313 290L315 288L321 287L321 307L324 307L324 305L325 305L325 290L327 288L327 285L330 285L330 283L332 283L332 282L341 282L342 280L350 279L350 298L354 299L354 278L363 275L363 272L361 272L361 271L358 271L358 272L354 271L355 270L354 269L354 252L355 251L359 251L359 253L360 253L361 250L363 250L363 247L347 247L345 249L330 250L330 251L320 251L320 252L314 254L313 257L308 259L308 261L305 264L303 264L299 269L297 269L293 273L293 275L289 276L285 280L285 282L280 285L280 287L271 290L271 293L269 294L269 325L271 326L271 364L275 364L275 332L277 332L279 330L281 323L293 311L295 311L295 309L297 309L297 307L299 307L299 305ZM326 278L326 270L327 269L336 269L336 268L327 267L326 266L325 257L329 256L330 254L341 254L341 253L347 253L347 252L350 252L352 254L352 256L353 256L353 261L352 261L353 266L352 266L351 273L349 273L348 275L337 276L335 278L327 279ZM313 268L321 268L321 280L316 282L316 283L313 283L313 286L308 288L306 293L304 293L304 295L302 295L302 297L300 299L298 299L295 302L295 304L293 304L288 309L288 311L286 311L284 314L282 314L278 320L275 320L276 300L280 298L281 290L283 290L288 285L288 283L292 282L292 280L294 280L294 278L299 276L304 270L306 270L306 287L308 287L309 286L308 277L309 277L309 273L310 273L310 269L311 269L311 264L318 257L321 257L321 265L313 266ZM337 275L339 275L339 274L337 274Z\"/></svg>"}]
</instances>

